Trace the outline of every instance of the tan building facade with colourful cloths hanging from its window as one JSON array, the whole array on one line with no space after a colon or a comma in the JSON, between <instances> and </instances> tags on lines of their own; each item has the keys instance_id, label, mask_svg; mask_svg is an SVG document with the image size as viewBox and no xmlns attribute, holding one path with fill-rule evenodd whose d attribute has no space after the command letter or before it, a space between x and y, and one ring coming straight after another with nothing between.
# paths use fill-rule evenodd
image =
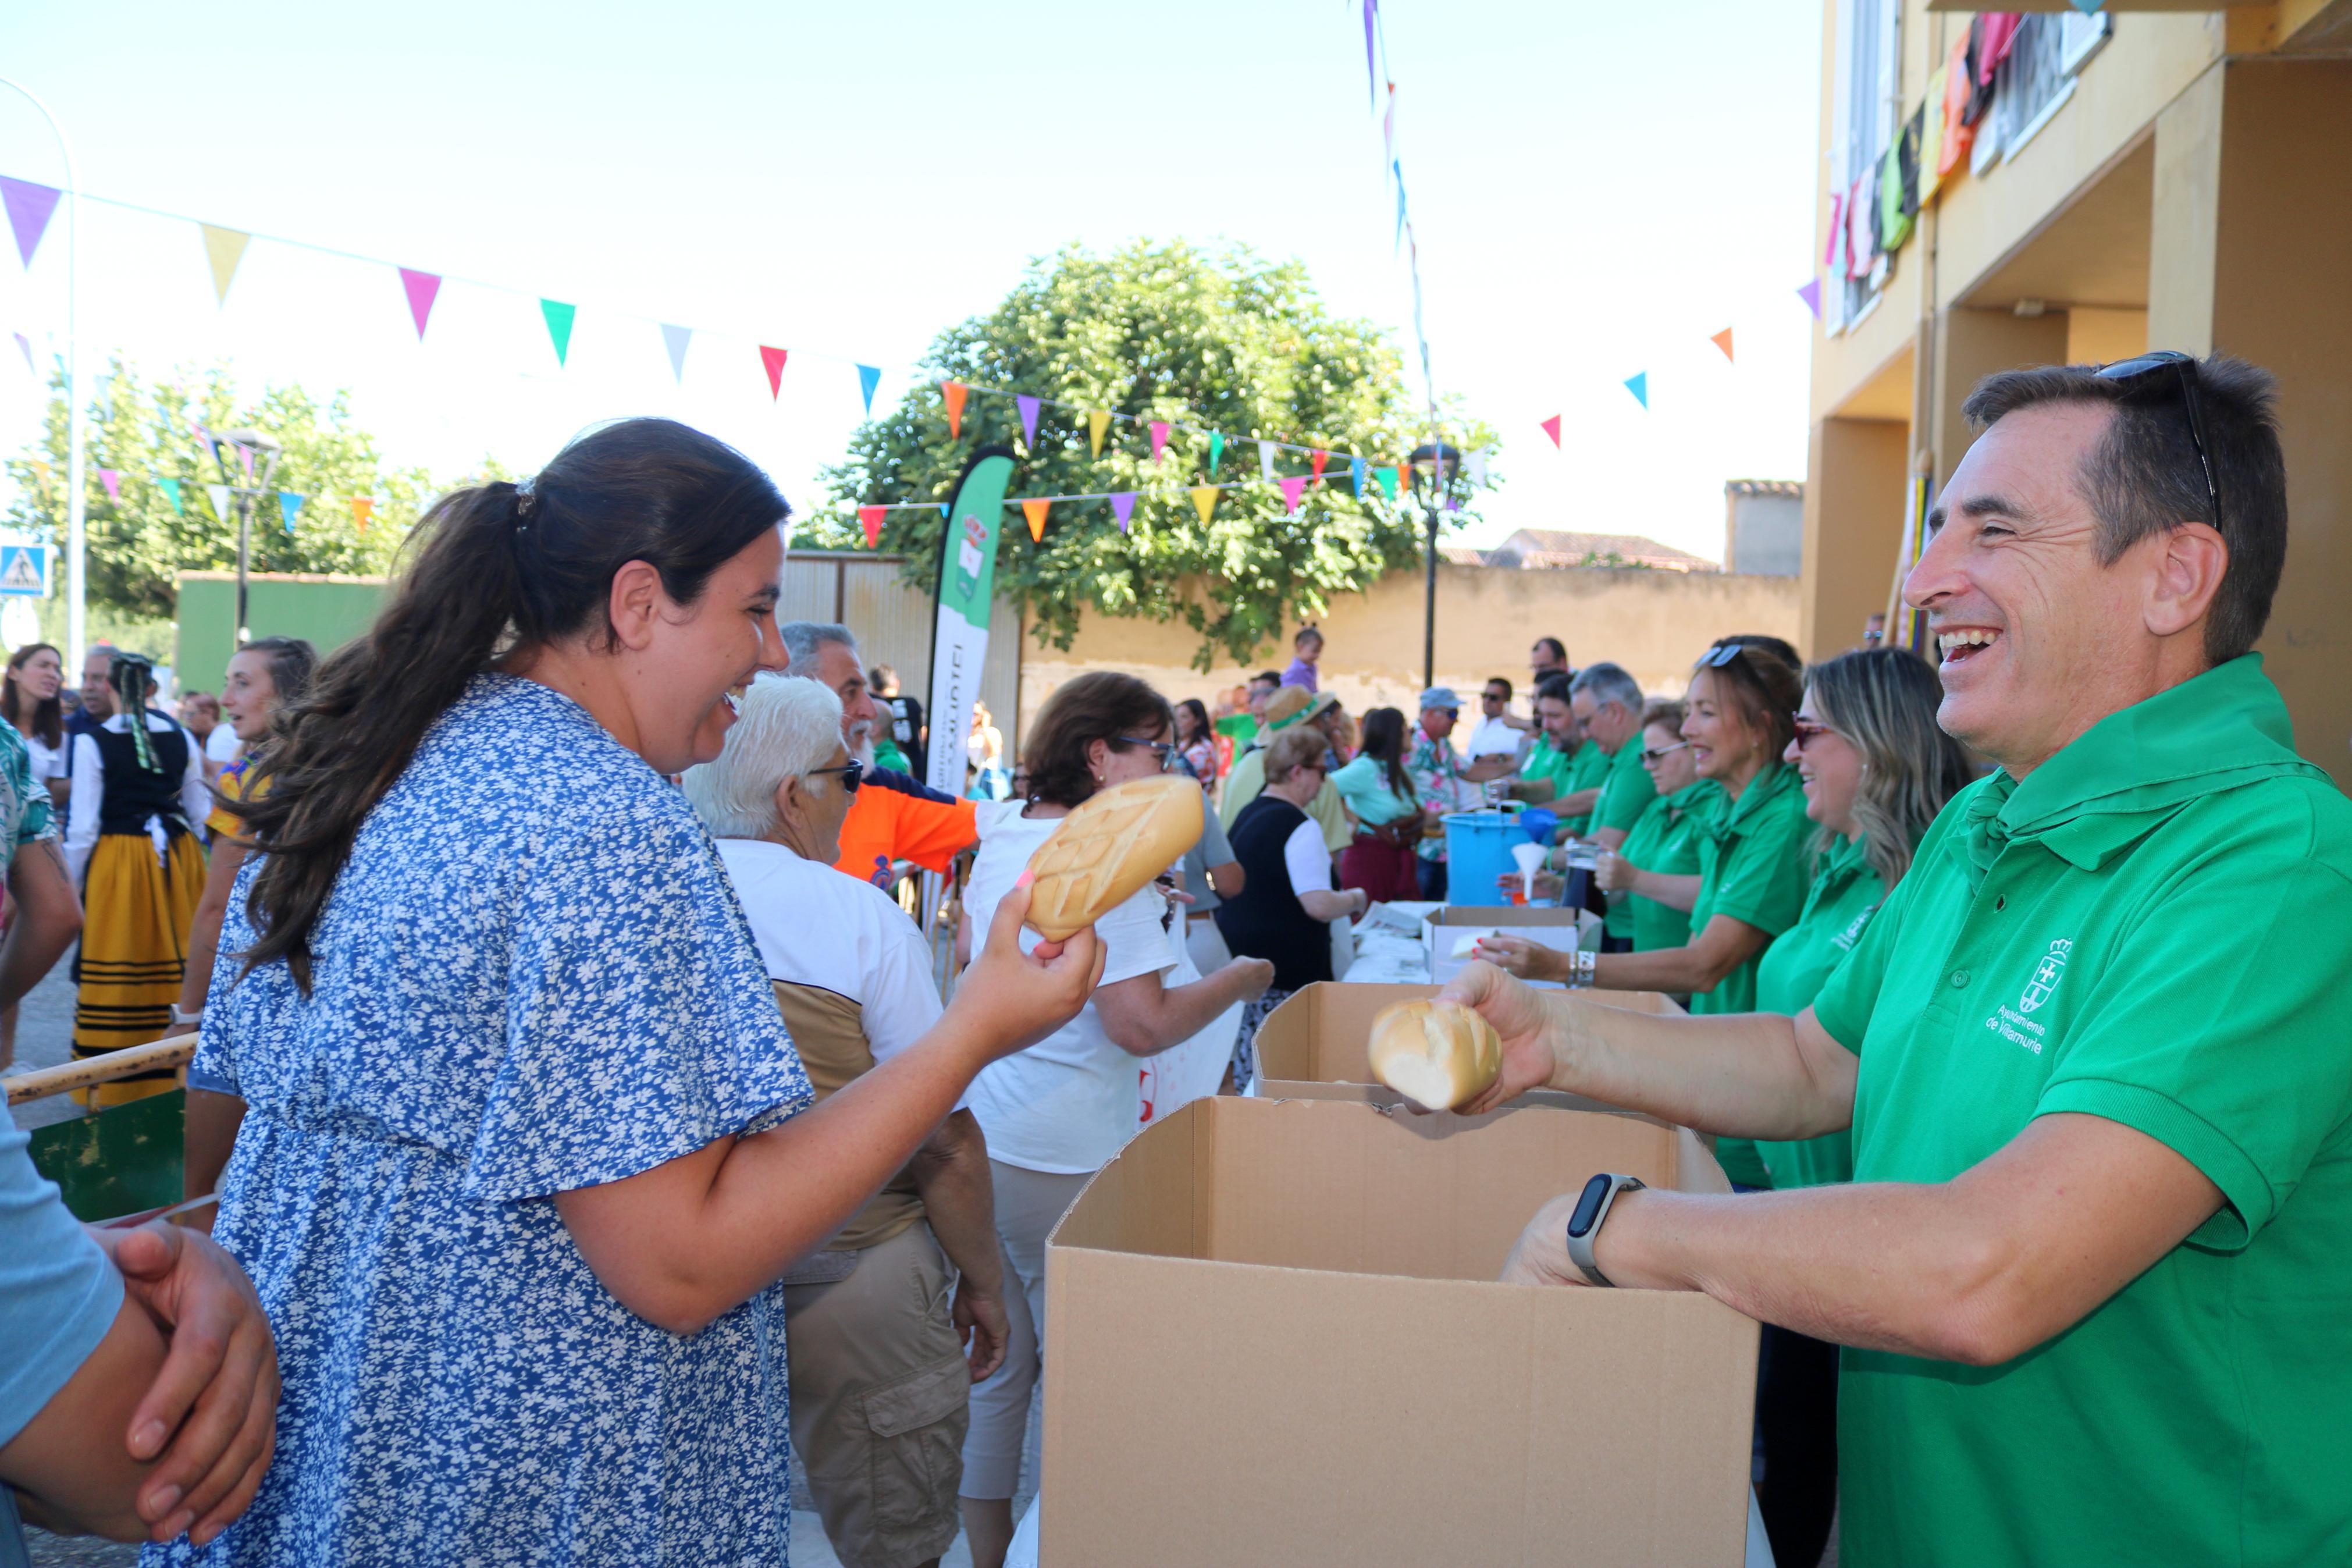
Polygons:
<instances>
[{"instance_id":1,"label":"tan building facade with colourful cloths hanging from its window","mask_svg":"<svg viewBox=\"0 0 2352 1568\"><path fill-rule=\"evenodd\" d=\"M2260 651L2352 785L2352 0L2037 2L1823 0L1799 642L1893 604L1978 378L2232 353L2279 378L2286 440Z\"/></svg>"}]
</instances>

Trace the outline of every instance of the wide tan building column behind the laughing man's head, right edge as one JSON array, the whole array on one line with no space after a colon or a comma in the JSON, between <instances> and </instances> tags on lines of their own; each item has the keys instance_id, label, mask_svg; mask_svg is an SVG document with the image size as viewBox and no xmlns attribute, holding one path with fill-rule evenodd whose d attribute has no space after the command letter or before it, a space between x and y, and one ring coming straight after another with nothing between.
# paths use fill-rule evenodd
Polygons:
<instances>
[{"instance_id":1,"label":"wide tan building column behind the laughing man's head, right edge","mask_svg":"<svg viewBox=\"0 0 2352 1568\"><path fill-rule=\"evenodd\" d=\"M2157 120L2147 341L2279 378L2286 578L2260 654L2352 788L2352 61L2227 59ZM2230 491L2223 487L2223 517Z\"/></svg>"}]
</instances>

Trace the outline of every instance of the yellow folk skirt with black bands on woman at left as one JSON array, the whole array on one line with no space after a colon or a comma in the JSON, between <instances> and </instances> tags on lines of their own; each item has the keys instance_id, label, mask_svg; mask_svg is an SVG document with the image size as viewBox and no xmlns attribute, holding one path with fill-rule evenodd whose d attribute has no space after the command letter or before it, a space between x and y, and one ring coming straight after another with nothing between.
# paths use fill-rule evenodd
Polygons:
<instances>
[{"instance_id":1,"label":"yellow folk skirt with black bands on woman at left","mask_svg":"<svg viewBox=\"0 0 2352 1568\"><path fill-rule=\"evenodd\" d=\"M108 832L82 879L82 947L73 957L73 1056L87 1060L162 1039L188 978L188 929L205 896L205 851L193 832L172 835L165 860L143 832ZM165 1093L176 1070L141 1072L78 1091L89 1107Z\"/></svg>"}]
</instances>

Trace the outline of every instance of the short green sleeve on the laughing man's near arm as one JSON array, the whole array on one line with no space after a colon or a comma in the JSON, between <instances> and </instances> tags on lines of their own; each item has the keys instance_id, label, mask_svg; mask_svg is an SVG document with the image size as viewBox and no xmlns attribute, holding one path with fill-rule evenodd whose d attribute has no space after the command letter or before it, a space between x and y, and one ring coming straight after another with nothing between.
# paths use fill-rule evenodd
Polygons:
<instances>
[{"instance_id":1,"label":"short green sleeve on the laughing man's near arm","mask_svg":"<svg viewBox=\"0 0 2352 1568\"><path fill-rule=\"evenodd\" d=\"M2204 1171L2227 1206L2190 1241L2225 1253L2293 1197L2352 1103L2352 884L2274 844L2239 849L2117 938L2034 1105L2122 1121Z\"/></svg>"}]
</instances>

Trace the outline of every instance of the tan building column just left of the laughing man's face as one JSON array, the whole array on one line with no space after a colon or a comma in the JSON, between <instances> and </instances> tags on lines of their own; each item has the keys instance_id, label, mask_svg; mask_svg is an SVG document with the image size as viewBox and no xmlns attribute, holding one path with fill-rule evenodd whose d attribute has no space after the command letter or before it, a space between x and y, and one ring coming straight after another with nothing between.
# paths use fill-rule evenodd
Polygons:
<instances>
[{"instance_id":1,"label":"tan building column just left of the laughing man's face","mask_svg":"<svg viewBox=\"0 0 2352 1568\"><path fill-rule=\"evenodd\" d=\"M1813 425L1797 625L1797 651L1809 661L1860 644L1863 621L1886 609L1903 543L1907 451L1903 421L1825 418Z\"/></svg>"}]
</instances>

